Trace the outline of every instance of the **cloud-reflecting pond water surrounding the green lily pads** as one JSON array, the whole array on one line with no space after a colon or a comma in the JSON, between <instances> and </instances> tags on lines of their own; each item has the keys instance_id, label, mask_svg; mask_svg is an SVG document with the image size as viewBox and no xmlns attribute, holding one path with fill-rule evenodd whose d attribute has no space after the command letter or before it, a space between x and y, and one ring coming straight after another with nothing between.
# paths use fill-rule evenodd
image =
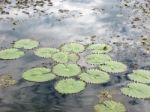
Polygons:
<instances>
[{"instance_id":1,"label":"cloud-reflecting pond water surrounding the green lily pads","mask_svg":"<svg viewBox=\"0 0 150 112\"><path fill-rule=\"evenodd\" d=\"M123 5L127 1L131 7ZM128 65L128 71L111 75L107 84L89 84L81 93L61 95L54 90L56 80L33 83L22 79L27 69L51 68L54 64L33 55L33 50L25 51L23 58L0 60L0 75L9 74L17 80L14 86L0 88L0 112L94 112L97 95L105 89L112 91L113 98L123 103L128 112L149 112L149 100L130 98L120 92L120 87L130 82L126 75L133 69L150 70L150 53L141 44L143 36L150 37L150 15L137 8L140 3L134 7L134 2L144 4L146 0L52 0L44 8L37 6L37 10L32 6L14 8L15 2L12 0L5 7L9 14L0 15L1 49L23 38L39 41L40 47L55 48L67 42L108 43L113 46L110 55ZM140 21L134 21L137 17ZM78 64L90 67L82 59Z\"/></svg>"}]
</instances>

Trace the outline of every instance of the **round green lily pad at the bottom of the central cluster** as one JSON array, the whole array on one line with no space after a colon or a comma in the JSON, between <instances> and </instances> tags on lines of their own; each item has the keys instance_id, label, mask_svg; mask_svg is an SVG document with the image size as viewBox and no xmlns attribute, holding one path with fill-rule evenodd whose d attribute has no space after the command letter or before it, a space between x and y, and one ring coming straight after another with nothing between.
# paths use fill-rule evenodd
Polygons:
<instances>
[{"instance_id":1,"label":"round green lily pad at the bottom of the central cluster","mask_svg":"<svg viewBox=\"0 0 150 112\"><path fill-rule=\"evenodd\" d=\"M57 82L55 89L62 94L73 94L84 90L85 86L86 84L80 80L63 79Z\"/></svg>"}]
</instances>

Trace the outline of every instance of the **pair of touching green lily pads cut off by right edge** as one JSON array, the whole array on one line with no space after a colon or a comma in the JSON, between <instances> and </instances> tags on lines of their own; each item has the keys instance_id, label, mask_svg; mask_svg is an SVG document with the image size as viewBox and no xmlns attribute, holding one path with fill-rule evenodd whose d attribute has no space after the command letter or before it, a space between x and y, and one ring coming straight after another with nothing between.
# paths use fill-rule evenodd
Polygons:
<instances>
[{"instance_id":1,"label":"pair of touching green lily pads cut off by right edge","mask_svg":"<svg viewBox=\"0 0 150 112\"><path fill-rule=\"evenodd\" d=\"M128 78L134 82L129 83L126 87L121 88L121 92L134 98L150 98L150 71L133 70Z\"/></svg>"}]
</instances>

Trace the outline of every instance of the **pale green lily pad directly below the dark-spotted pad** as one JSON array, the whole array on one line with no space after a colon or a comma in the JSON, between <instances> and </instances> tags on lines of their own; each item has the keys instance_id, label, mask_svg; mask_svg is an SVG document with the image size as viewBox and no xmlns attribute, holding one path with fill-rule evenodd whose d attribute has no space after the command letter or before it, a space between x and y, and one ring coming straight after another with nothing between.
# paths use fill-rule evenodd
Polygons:
<instances>
[{"instance_id":1,"label":"pale green lily pad directly below the dark-spotted pad","mask_svg":"<svg viewBox=\"0 0 150 112\"><path fill-rule=\"evenodd\" d=\"M107 54L90 54L86 56L86 62L89 64L103 64L110 60L111 57Z\"/></svg>"}]
</instances>

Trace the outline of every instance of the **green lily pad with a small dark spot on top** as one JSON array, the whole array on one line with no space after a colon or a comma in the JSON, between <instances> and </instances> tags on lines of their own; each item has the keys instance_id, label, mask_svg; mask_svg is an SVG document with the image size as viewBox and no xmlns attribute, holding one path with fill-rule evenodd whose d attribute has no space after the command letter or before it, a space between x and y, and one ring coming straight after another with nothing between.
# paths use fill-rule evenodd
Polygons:
<instances>
[{"instance_id":1,"label":"green lily pad with a small dark spot on top","mask_svg":"<svg viewBox=\"0 0 150 112\"><path fill-rule=\"evenodd\" d=\"M92 53L108 53L112 47L107 44L91 44L87 49L92 50Z\"/></svg>"}]
</instances>

